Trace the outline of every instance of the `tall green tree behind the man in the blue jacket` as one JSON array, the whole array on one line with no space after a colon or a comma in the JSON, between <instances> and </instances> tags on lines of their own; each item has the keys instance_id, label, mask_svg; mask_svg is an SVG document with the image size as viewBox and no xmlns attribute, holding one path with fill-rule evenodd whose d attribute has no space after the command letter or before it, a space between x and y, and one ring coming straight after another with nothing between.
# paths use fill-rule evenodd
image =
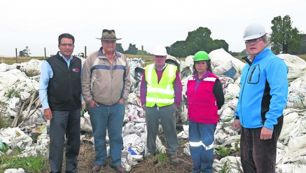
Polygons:
<instances>
[{"instance_id":1,"label":"tall green tree behind the man in the blue jacket","mask_svg":"<svg viewBox=\"0 0 306 173\"><path fill-rule=\"evenodd\" d=\"M289 15L274 17L271 21L272 33L270 38L271 50L278 54L288 53L302 48L302 34L296 27L292 27Z\"/></svg>"}]
</instances>

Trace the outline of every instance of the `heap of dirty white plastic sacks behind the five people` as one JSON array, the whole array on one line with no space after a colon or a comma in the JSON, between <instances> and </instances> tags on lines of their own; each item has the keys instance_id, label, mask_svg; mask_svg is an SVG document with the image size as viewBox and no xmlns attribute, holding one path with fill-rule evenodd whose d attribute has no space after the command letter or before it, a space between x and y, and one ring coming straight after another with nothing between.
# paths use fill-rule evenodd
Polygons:
<instances>
[{"instance_id":1,"label":"heap of dirty white plastic sacks behind the five people","mask_svg":"<svg viewBox=\"0 0 306 173\"><path fill-rule=\"evenodd\" d=\"M224 49L217 49L209 53L211 58L213 73L216 74L223 84L223 91L226 103L219 110L220 122L215 132L214 147L228 147L235 152L235 145L239 146L240 135L238 131L233 130L234 110L238 102L238 93L240 90L240 75L244 63L227 53ZM277 143L277 173L305 173L306 172L306 62L294 55L280 54L289 68L288 82L289 93L287 106L284 110L284 124ZM168 60L178 62L173 56L168 56ZM82 59L82 61L84 61ZM6 65L0 64L0 107L1 115L15 117L21 106L21 102L31 96L34 90L38 89L39 76L27 77L25 73L16 69L17 65L24 69L40 71L42 61L32 59L27 63ZM123 150L122 165L127 171L131 170L132 165L143 159L146 152L146 121L145 111L140 103L140 83L141 73L136 73L134 69L141 67L144 62L141 59L129 59L131 67L132 87L129 99L126 104L125 118L122 129ZM185 61L179 62L180 74L183 84L182 104L177 111L177 122L183 123L183 131L178 134L179 138L186 139L184 153L190 155L188 142L188 115L187 100L185 92L187 90L187 81L191 77L193 56L188 56ZM133 78L136 76L135 78ZM12 89L20 92L20 97L8 98L8 93ZM35 110L31 110L35 111ZM30 112L31 112L30 111ZM31 112L32 113L32 112ZM7 128L0 130L0 142L9 145L11 148L23 148L24 152L20 157L26 157L29 154L36 154L36 151L47 153L47 143L49 122L43 117L43 110L39 108L35 113L17 128ZM89 114L84 112L81 116L81 130L92 131ZM160 130L161 127L160 127ZM37 143L32 143L31 135L39 133ZM93 138L86 139L80 135L81 140L91 141ZM107 137L107 143L108 143ZM109 143L108 143L109 144ZM31 145L31 146L30 146ZM166 152L166 147L162 145L157 137L157 151ZM108 147L109 149L109 147ZM11 151L8 150L9 154ZM214 162L214 173L221 171L226 164L231 169L231 173L242 172L240 157L227 156L220 161ZM17 171L17 170L16 170ZM22 173L22 172L21 172Z\"/></svg>"}]
</instances>

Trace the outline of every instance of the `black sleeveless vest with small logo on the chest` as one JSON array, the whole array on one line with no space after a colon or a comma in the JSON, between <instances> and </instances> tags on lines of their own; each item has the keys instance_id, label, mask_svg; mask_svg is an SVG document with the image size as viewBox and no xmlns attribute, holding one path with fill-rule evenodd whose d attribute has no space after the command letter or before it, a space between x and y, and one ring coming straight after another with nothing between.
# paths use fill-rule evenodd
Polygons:
<instances>
[{"instance_id":1,"label":"black sleeveless vest with small logo on the chest","mask_svg":"<svg viewBox=\"0 0 306 173\"><path fill-rule=\"evenodd\" d=\"M46 61L50 64L53 77L47 88L48 103L52 111L67 111L81 107L81 60L73 57L67 62L58 53Z\"/></svg>"}]
</instances>

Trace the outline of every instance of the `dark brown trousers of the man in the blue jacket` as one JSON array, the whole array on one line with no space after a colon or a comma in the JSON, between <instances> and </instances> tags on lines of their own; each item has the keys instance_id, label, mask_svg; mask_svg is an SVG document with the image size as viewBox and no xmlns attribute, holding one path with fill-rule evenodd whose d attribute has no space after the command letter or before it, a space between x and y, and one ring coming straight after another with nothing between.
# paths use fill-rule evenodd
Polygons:
<instances>
[{"instance_id":1,"label":"dark brown trousers of the man in the blue jacket","mask_svg":"<svg viewBox=\"0 0 306 173\"><path fill-rule=\"evenodd\" d=\"M272 138L260 139L262 128L241 128L240 152L244 173L275 173L276 143L283 120L274 125Z\"/></svg>"}]
</instances>

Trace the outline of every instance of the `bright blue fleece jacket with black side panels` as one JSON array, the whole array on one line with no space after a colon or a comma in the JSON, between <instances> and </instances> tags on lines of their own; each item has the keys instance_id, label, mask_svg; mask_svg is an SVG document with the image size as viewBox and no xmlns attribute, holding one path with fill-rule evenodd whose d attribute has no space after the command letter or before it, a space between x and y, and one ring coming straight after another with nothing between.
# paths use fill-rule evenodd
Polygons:
<instances>
[{"instance_id":1,"label":"bright blue fleece jacket with black side panels","mask_svg":"<svg viewBox=\"0 0 306 173\"><path fill-rule=\"evenodd\" d=\"M287 104L287 73L285 62L268 47L244 66L234 117L242 127L273 130Z\"/></svg>"}]
</instances>

